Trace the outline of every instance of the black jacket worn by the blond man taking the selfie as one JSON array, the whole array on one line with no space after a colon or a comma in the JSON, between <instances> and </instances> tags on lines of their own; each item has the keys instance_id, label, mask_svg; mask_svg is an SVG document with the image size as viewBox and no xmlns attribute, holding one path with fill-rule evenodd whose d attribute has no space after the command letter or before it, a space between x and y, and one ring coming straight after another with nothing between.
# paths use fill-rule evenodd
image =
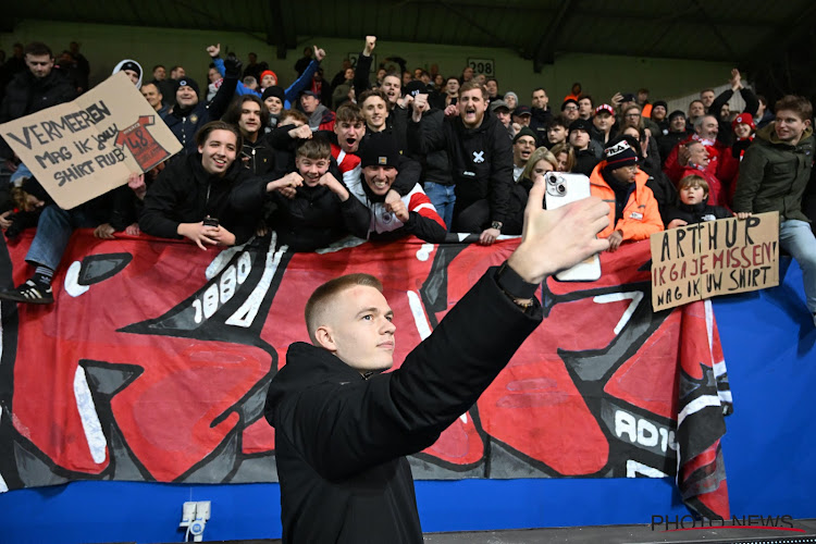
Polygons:
<instances>
[{"instance_id":1,"label":"black jacket worn by the blond man taking the selfie","mask_svg":"<svg viewBox=\"0 0 816 544\"><path fill-rule=\"evenodd\" d=\"M394 372L363 380L295 343L272 380L284 543L417 543L406 455L433 444L477 401L542 320L502 293L490 269Z\"/></svg>"}]
</instances>

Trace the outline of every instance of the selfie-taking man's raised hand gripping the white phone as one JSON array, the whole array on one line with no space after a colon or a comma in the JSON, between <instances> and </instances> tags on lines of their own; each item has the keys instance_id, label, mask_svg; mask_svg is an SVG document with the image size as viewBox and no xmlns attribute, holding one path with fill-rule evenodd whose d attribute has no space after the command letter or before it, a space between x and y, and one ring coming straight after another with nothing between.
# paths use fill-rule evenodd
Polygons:
<instances>
[{"instance_id":1,"label":"selfie-taking man's raised hand gripping the white phone","mask_svg":"<svg viewBox=\"0 0 816 544\"><path fill-rule=\"evenodd\" d=\"M521 244L507 263L526 282L541 283L609 247L596 234L609 224L609 206L596 197L544 210L544 176L530 189Z\"/></svg>"}]
</instances>

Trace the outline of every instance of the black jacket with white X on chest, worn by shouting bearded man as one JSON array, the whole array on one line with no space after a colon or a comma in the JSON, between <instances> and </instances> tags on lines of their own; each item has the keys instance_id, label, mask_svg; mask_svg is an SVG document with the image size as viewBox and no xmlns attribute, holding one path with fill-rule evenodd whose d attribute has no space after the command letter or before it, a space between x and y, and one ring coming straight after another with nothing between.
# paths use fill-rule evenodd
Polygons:
<instances>
[{"instance_id":1,"label":"black jacket with white X on chest, worn by shouting bearded man","mask_svg":"<svg viewBox=\"0 0 816 544\"><path fill-rule=\"evenodd\" d=\"M482 124L467 128L461 118L446 118L442 131L422 129L419 123L408 123L408 148L415 154L428 154L444 149L450 161L456 183L457 208L489 199L491 221L504 223L512 189L512 145L507 131L496 118L484 112Z\"/></svg>"}]
</instances>

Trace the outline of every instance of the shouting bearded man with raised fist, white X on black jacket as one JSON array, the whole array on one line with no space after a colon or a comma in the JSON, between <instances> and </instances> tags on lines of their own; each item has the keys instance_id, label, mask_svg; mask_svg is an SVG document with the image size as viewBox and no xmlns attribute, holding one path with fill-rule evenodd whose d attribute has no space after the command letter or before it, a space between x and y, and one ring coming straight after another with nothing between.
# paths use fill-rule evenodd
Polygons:
<instances>
[{"instance_id":1,"label":"shouting bearded man with raised fist, white X on black jacket","mask_svg":"<svg viewBox=\"0 0 816 544\"><path fill-rule=\"evenodd\" d=\"M459 90L458 112L442 131L422 131L428 97L418 95L408 124L408 146L417 156L444 149L456 183L454 232L478 233L479 243L493 244L502 234L512 188L512 152L505 127L485 114L487 90L468 83Z\"/></svg>"}]
</instances>

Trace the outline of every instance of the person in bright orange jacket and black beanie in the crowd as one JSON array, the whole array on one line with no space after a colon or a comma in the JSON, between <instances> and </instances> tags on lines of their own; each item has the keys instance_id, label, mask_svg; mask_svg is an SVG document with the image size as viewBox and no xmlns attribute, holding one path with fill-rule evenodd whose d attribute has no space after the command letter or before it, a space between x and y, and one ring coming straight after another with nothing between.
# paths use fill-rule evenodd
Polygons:
<instances>
[{"instance_id":1,"label":"person in bright orange jacket and black beanie in the crowd","mask_svg":"<svg viewBox=\"0 0 816 544\"><path fill-rule=\"evenodd\" d=\"M609 224L598 233L609 239L609 251L663 231L657 200L646 186L648 175L638 169L636 145L631 136L615 138L590 176L592 196L609 205Z\"/></svg>"}]
</instances>

